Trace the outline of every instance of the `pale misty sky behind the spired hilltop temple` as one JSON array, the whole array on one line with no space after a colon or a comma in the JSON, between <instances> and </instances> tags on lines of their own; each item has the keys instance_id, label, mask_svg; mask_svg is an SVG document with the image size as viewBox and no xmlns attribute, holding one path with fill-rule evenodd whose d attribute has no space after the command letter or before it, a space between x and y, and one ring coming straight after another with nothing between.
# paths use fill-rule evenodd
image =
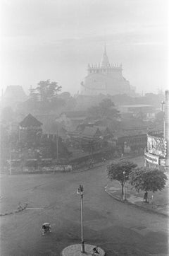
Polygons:
<instances>
[{"instance_id":1,"label":"pale misty sky behind the spired hilltop temple","mask_svg":"<svg viewBox=\"0 0 169 256\"><path fill-rule=\"evenodd\" d=\"M168 0L1 0L1 81L76 93L88 63L111 63L137 92L168 88Z\"/></svg>"}]
</instances>

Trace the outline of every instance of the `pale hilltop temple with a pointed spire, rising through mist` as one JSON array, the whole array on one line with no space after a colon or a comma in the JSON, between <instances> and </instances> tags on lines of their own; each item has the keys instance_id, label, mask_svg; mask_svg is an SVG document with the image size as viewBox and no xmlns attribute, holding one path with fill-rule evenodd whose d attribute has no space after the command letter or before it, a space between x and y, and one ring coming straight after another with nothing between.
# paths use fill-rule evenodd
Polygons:
<instances>
[{"instance_id":1,"label":"pale hilltop temple with a pointed spire, rising through mist","mask_svg":"<svg viewBox=\"0 0 169 256\"><path fill-rule=\"evenodd\" d=\"M92 66L88 64L87 76L81 83L81 94L133 95L134 89L131 88L129 81L123 77L122 71L122 64L110 64L106 54L106 47L104 47L101 64Z\"/></svg>"}]
</instances>

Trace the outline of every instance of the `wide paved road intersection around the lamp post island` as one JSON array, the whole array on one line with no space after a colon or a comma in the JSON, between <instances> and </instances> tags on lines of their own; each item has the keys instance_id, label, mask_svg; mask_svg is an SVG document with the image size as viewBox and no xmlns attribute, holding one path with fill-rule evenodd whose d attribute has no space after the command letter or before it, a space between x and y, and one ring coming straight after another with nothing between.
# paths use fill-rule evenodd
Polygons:
<instances>
[{"instance_id":1,"label":"wide paved road intersection around the lamp post island","mask_svg":"<svg viewBox=\"0 0 169 256\"><path fill-rule=\"evenodd\" d=\"M107 256L168 255L168 219L116 201L104 192L102 166L82 173L13 175L1 178L1 196L29 209L1 216L1 256L59 255L80 242L80 197L84 185L84 240ZM32 208L32 209L31 209ZM35 208L35 209L33 209ZM43 222L52 233L41 235Z\"/></svg>"}]
</instances>

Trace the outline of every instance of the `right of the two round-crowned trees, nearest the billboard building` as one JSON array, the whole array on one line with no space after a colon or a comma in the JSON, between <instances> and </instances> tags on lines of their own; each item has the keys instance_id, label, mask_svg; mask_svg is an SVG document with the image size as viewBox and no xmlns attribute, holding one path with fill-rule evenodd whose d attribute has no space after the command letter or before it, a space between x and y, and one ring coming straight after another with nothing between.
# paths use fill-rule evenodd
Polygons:
<instances>
[{"instance_id":1,"label":"right of the two round-crowned trees, nearest the billboard building","mask_svg":"<svg viewBox=\"0 0 169 256\"><path fill-rule=\"evenodd\" d=\"M136 168L130 173L130 184L134 186L135 190L145 191L146 195L149 191L156 192L163 190L165 187L167 176L158 168L141 167ZM147 196L145 197L147 202Z\"/></svg>"}]
</instances>

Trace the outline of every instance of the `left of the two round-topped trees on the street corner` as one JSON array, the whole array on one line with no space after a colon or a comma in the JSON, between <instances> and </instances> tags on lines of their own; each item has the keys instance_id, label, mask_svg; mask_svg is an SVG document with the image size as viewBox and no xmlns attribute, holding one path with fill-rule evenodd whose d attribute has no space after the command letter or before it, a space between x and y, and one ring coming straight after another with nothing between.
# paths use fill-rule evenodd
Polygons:
<instances>
[{"instance_id":1,"label":"left of the two round-topped trees on the street corner","mask_svg":"<svg viewBox=\"0 0 169 256\"><path fill-rule=\"evenodd\" d=\"M130 161L113 161L111 165L107 167L107 173L109 180L118 180L122 186L122 194L124 194L124 182L129 180L130 172L133 168L137 167L136 163ZM125 171L125 179L123 172Z\"/></svg>"}]
</instances>

